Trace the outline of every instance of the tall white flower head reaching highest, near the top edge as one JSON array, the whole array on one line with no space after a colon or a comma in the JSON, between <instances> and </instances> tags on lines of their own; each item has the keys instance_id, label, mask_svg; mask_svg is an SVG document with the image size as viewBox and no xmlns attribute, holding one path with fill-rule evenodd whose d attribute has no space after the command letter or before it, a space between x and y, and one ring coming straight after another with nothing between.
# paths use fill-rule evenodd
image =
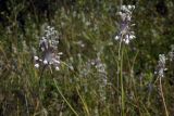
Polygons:
<instances>
[{"instance_id":1,"label":"tall white flower head reaching highest, near the top edge","mask_svg":"<svg viewBox=\"0 0 174 116\"><path fill-rule=\"evenodd\" d=\"M126 44L135 37L135 33L130 30L130 27L135 24L132 24L132 13L135 9L135 5L122 5L121 11L119 12L122 22L120 25L119 35L115 36L115 40L124 41Z\"/></svg>"}]
</instances>

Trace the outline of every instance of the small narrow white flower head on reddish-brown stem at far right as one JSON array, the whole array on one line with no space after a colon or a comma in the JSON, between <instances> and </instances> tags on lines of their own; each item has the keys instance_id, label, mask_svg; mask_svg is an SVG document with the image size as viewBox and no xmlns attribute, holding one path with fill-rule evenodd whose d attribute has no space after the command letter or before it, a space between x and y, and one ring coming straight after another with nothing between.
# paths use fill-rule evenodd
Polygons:
<instances>
[{"instance_id":1,"label":"small narrow white flower head on reddish-brown stem at far right","mask_svg":"<svg viewBox=\"0 0 174 116\"><path fill-rule=\"evenodd\" d=\"M158 68L157 72L154 74L158 74L159 77L164 77L164 72L167 69L165 67L165 63L166 63L166 57L164 54L159 54L159 64L158 64Z\"/></svg>"}]
</instances>

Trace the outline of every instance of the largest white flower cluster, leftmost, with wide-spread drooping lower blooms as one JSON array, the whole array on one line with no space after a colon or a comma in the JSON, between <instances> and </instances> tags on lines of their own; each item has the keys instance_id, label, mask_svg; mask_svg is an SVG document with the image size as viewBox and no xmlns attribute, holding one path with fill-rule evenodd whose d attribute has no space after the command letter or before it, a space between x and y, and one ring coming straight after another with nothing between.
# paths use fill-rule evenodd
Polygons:
<instances>
[{"instance_id":1,"label":"largest white flower cluster, leftmost, with wide-spread drooping lower blooms","mask_svg":"<svg viewBox=\"0 0 174 116\"><path fill-rule=\"evenodd\" d=\"M53 65L57 70L60 69L60 55L62 52L57 53L59 43L58 31L54 27L47 26L45 35L41 37L39 48L41 49L41 56L34 56L35 67L40 65Z\"/></svg>"}]
</instances>

